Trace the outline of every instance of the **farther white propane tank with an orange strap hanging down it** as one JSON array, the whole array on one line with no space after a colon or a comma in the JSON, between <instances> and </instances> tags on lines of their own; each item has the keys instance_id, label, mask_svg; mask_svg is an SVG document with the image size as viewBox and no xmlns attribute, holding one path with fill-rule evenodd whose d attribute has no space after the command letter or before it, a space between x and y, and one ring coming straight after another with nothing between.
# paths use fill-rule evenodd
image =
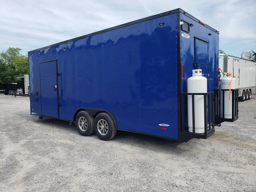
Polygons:
<instances>
[{"instance_id":1,"label":"farther white propane tank with an orange strap hanging down it","mask_svg":"<svg viewBox=\"0 0 256 192\"><path fill-rule=\"evenodd\" d=\"M221 78L221 85L220 89L230 89L230 84L231 84L231 89L235 89L235 78L230 77L229 73L225 73L225 76ZM232 82L231 82L232 79ZM224 117L223 117L223 91L221 91L220 94L220 100L221 100L221 118L225 119L232 119L232 91L230 91L230 99L229 99L229 91L224 92Z\"/></svg>"}]
</instances>

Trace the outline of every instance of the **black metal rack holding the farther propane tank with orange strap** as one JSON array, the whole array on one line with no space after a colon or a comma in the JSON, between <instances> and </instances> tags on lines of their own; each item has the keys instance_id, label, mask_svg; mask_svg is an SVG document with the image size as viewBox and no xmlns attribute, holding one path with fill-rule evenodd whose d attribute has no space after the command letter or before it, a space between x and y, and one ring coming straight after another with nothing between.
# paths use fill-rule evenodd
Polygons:
<instances>
[{"instance_id":1,"label":"black metal rack holding the farther propane tank with orange strap","mask_svg":"<svg viewBox=\"0 0 256 192\"><path fill-rule=\"evenodd\" d=\"M229 122L234 122L235 120L238 119L238 89L231 89L232 92L232 117L231 118L224 118L225 117L225 106L228 101L223 99L225 96L225 93L229 93L229 89L217 89L214 90L214 95L215 95L215 125L216 126L221 126L221 123L224 121L229 121ZM222 97L222 98L221 98ZM221 114L221 105L222 107L222 114Z\"/></svg>"}]
</instances>

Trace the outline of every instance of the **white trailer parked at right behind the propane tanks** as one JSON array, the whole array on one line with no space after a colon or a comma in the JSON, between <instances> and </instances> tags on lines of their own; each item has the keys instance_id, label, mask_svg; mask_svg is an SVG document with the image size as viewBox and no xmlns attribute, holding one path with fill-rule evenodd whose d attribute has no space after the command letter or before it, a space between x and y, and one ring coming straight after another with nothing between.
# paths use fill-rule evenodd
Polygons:
<instances>
[{"instance_id":1,"label":"white trailer parked at right behind the propane tanks","mask_svg":"<svg viewBox=\"0 0 256 192\"><path fill-rule=\"evenodd\" d=\"M240 101L251 99L251 94L256 93L256 62L249 60L251 53L243 52L239 58L226 54L219 54L219 68L223 73L232 73L235 78L235 88L239 89Z\"/></svg>"}]
</instances>

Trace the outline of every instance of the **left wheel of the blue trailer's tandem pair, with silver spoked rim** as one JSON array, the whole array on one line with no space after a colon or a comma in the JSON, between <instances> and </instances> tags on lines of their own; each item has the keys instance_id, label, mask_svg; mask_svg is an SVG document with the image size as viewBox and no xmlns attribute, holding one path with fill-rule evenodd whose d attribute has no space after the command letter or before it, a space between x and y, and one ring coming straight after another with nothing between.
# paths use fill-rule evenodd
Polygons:
<instances>
[{"instance_id":1,"label":"left wheel of the blue trailer's tandem pair, with silver spoked rim","mask_svg":"<svg viewBox=\"0 0 256 192\"><path fill-rule=\"evenodd\" d=\"M75 119L75 125L80 135L89 136L94 132L94 119L86 111L81 111L77 114L77 117Z\"/></svg>"}]
</instances>

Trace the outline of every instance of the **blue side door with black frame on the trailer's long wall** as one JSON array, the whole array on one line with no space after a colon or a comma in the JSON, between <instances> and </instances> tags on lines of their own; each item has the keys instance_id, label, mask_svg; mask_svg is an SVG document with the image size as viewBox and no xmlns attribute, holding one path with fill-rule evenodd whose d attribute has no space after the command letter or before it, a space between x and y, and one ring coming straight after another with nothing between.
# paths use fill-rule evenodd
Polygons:
<instances>
[{"instance_id":1,"label":"blue side door with black frame on the trailer's long wall","mask_svg":"<svg viewBox=\"0 0 256 192\"><path fill-rule=\"evenodd\" d=\"M57 61L40 63L42 115L59 117Z\"/></svg>"}]
</instances>

